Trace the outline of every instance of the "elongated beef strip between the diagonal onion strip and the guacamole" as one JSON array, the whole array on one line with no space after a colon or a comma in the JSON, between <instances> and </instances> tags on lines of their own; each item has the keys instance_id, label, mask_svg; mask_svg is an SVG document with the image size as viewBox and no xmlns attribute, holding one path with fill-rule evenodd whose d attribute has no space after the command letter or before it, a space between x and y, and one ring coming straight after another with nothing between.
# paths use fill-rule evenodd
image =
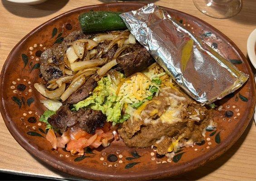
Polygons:
<instances>
[{"instance_id":1,"label":"elongated beef strip between the diagonal onion strip and the guacamole","mask_svg":"<svg viewBox=\"0 0 256 181\"><path fill-rule=\"evenodd\" d=\"M71 94L67 100L69 104L76 104L81 100L85 100L89 97L97 84L97 74L92 75L83 86L81 86L78 90L76 90L73 94Z\"/></svg>"}]
</instances>

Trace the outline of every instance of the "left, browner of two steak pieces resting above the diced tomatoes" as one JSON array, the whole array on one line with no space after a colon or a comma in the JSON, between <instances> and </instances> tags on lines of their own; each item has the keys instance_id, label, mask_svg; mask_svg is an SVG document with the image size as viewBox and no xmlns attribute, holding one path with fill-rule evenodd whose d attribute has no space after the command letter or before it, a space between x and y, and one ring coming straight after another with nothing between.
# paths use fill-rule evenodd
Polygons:
<instances>
[{"instance_id":1,"label":"left, browner of two steak pieces resting above the diced tomatoes","mask_svg":"<svg viewBox=\"0 0 256 181\"><path fill-rule=\"evenodd\" d=\"M84 109L71 111L69 105L65 104L59 108L56 114L48 119L48 122L54 128L66 131L68 127L72 127L78 123L78 119L82 114L84 114Z\"/></svg>"}]
</instances>

